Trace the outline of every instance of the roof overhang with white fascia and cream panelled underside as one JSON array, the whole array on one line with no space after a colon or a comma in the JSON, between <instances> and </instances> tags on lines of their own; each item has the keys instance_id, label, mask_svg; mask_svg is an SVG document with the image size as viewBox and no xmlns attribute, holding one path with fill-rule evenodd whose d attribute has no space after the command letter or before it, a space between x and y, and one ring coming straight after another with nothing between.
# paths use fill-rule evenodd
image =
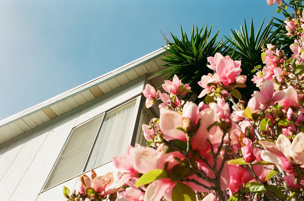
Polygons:
<instances>
[{"instance_id":1,"label":"roof overhang with white fascia and cream panelled underside","mask_svg":"<svg viewBox=\"0 0 304 201\"><path fill-rule=\"evenodd\" d=\"M155 75L164 69L163 48L130 62L116 70L55 96L36 106L0 121L0 144L33 129L61 114L81 106L113 89L147 74L154 86L160 86L163 75Z\"/></svg>"}]
</instances>

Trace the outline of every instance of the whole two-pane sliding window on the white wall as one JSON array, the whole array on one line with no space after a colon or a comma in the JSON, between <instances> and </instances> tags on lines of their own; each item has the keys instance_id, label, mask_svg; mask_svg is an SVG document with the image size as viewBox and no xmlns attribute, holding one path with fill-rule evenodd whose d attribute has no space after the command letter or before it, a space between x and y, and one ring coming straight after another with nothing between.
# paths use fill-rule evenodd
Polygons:
<instances>
[{"instance_id":1,"label":"whole two-pane sliding window on the white wall","mask_svg":"<svg viewBox=\"0 0 304 201\"><path fill-rule=\"evenodd\" d=\"M124 153L136 99L72 129L43 189L57 185Z\"/></svg>"}]
</instances>

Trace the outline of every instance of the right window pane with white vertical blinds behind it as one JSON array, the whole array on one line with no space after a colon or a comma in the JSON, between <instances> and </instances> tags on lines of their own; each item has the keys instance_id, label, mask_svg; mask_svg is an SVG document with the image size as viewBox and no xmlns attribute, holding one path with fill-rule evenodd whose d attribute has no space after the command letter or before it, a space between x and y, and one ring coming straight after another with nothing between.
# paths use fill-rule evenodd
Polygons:
<instances>
[{"instance_id":1,"label":"right window pane with white vertical blinds behind it","mask_svg":"<svg viewBox=\"0 0 304 201\"><path fill-rule=\"evenodd\" d=\"M113 156L124 153L134 119L135 103L136 100L106 114L86 170L109 162Z\"/></svg>"}]
</instances>

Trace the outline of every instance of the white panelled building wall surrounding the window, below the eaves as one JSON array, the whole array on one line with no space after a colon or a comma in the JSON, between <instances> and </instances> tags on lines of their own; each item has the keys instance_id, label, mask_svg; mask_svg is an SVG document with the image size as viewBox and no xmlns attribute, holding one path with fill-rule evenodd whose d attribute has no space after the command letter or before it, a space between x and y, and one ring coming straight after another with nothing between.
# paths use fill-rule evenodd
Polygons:
<instances>
[{"instance_id":1,"label":"white panelled building wall surrounding the window, below the eaves","mask_svg":"<svg viewBox=\"0 0 304 201\"><path fill-rule=\"evenodd\" d=\"M41 191L71 129L120 103L141 94L145 76L116 88L85 105L54 118L0 145L2 200L66 200L63 186L74 189L78 176ZM77 162L75 162L77 165ZM96 169L101 175L113 171L111 163Z\"/></svg>"}]
</instances>

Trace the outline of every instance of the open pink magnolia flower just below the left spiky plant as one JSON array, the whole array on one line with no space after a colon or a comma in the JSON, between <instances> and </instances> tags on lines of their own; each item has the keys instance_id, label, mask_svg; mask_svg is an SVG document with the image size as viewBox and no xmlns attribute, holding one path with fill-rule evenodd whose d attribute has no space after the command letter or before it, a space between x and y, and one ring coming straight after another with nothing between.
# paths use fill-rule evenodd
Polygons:
<instances>
[{"instance_id":1,"label":"open pink magnolia flower just below the left spiky plant","mask_svg":"<svg viewBox=\"0 0 304 201\"><path fill-rule=\"evenodd\" d=\"M185 95L190 91L191 87L189 84L181 83L181 80L178 79L177 75L174 75L173 80L165 80L165 83L162 85L164 90L172 95Z\"/></svg>"}]
</instances>

